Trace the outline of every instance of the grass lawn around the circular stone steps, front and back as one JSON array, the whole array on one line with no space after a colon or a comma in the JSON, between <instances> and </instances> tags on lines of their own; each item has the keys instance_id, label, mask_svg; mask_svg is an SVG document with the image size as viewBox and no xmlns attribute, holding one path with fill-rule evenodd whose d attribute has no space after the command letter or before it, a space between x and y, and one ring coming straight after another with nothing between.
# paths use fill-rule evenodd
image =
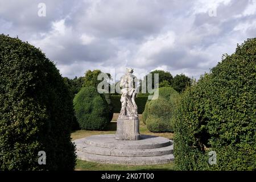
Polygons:
<instances>
[{"instance_id":1,"label":"grass lawn around the circular stone steps, front and back","mask_svg":"<svg viewBox=\"0 0 256 182\"><path fill-rule=\"evenodd\" d=\"M88 131L88 130L77 130L71 134L72 140L89 137L90 135L99 135L99 134L115 134L117 130L117 118L119 113L114 113L113 121L109 123L109 126L105 131ZM139 132L144 135L155 135L159 137L165 137L168 139L173 139L173 133L152 133L148 131L146 125L142 122L142 115L139 114ZM92 170L92 171L108 171L108 170L172 170L174 168L174 162L168 164L159 164L159 165L147 165L147 166L125 166L117 164L101 164L94 162L86 162L84 160L77 159L76 170Z\"/></svg>"}]
</instances>

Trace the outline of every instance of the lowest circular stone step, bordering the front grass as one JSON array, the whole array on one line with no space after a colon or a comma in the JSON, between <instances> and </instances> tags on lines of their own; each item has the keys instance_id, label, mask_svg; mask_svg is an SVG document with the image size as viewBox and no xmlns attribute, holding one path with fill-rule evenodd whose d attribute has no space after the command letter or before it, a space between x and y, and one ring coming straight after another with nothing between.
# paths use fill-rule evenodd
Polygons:
<instances>
[{"instance_id":1,"label":"lowest circular stone step, bordering the front grass","mask_svg":"<svg viewBox=\"0 0 256 182\"><path fill-rule=\"evenodd\" d=\"M147 156L147 157L122 157L122 156L106 156L88 154L77 151L77 158L90 162L98 162L105 164L125 164L125 165L150 165L150 164L165 164L174 160L173 154L161 156Z\"/></svg>"}]
</instances>

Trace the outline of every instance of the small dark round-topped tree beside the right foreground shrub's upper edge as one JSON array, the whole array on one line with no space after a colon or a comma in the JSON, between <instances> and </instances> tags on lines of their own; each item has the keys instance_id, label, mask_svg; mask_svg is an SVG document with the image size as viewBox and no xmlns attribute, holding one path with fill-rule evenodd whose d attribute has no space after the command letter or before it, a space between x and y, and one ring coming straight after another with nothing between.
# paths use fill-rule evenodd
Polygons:
<instances>
[{"instance_id":1,"label":"small dark round-topped tree beside the right foreground shrub's upper edge","mask_svg":"<svg viewBox=\"0 0 256 182\"><path fill-rule=\"evenodd\" d=\"M172 80L172 87L177 92L183 92L187 86L191 85L191 78L184 74L176 75Z\"/></svg>"}]
</instances>

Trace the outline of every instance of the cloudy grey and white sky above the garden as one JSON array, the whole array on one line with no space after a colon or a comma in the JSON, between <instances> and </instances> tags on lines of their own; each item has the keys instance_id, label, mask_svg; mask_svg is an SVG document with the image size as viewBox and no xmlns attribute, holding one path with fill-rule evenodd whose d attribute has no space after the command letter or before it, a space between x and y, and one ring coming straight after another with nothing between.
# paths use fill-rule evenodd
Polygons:
<instances>
[{"instance_id":1,"label":"cloudy grey and white sky above the garden","mask_svg":"<svg viewBox=\"0 0 256 182\"><path fill-rule=\"evenodd\" d=\"M69 78L127 67L199 78L256 37L256 0L0 0L2 33L40 47Z\"/></svg>"}]
</instances>

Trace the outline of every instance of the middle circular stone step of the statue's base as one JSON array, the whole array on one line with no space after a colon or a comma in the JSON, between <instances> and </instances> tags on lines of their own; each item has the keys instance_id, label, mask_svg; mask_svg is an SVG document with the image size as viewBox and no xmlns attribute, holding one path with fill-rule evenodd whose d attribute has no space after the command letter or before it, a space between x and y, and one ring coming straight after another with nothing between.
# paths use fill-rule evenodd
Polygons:
<instances>
[{"instance_id":1,"label":"middle circular stone step of the statue's base","mask_svg":"<svg viewBox=\"0 0 256 182\"><path fill-rule=\"evenodd\" d=\"M162 148L151 148L151 149L117 149L117 148L103 148L90 146L83 144L81 147L77 148L78 151L86 152L89 154L97 155L109 155L109 156L160 156L168 155L173 153L173 146L167 146Z\"/></svg>"}]
</instances>

